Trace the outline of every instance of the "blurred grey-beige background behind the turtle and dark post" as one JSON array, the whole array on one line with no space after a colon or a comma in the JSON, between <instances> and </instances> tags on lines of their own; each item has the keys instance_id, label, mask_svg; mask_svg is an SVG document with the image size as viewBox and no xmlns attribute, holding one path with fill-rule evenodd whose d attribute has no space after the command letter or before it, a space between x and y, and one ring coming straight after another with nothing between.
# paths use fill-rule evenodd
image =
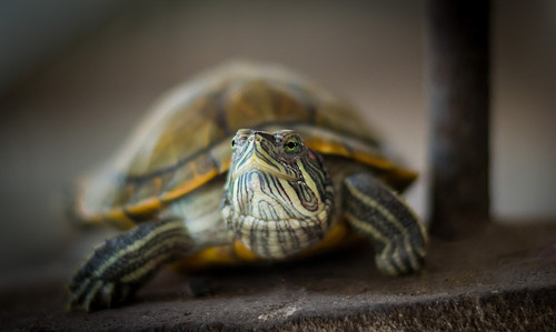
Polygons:
<instances>
[{"instance_id":1,"label":"blurred grey-beige background behind the turtle and dark post","mask_svg":"<svg viewBox=\"0 0 556 332\"><path fill-rule=\"evenodd\" d=\"M76 239L61 192L165 90L228 59L287 64L339 91L408 164L427 218L425 1L0 2L0 271ZM555 219L556 2L494 1L492 205Z\"/></svg>"}]
</instances>

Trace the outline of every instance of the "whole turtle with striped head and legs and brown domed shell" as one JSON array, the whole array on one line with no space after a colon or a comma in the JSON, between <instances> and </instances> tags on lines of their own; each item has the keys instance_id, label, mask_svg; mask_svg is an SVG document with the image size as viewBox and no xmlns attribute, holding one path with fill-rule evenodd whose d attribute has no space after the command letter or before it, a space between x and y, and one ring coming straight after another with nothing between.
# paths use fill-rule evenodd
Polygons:
<instances>
[{"instance_id":1,"label":"whole turtle with striped head and legs and brown domed shell","mask_svg":"<svg viewBox=\"0 0 556 332\"><path fill-rule=\"evenodd\" d=\"M279 262L353 234L384 274L419 272L426 228L399 194L416 178L326 88L278 64L221 64L163 95L77 185L73 219L123 232L77 270L69 308L121 305L172 262Z\"/></svg>"}]
</instances>

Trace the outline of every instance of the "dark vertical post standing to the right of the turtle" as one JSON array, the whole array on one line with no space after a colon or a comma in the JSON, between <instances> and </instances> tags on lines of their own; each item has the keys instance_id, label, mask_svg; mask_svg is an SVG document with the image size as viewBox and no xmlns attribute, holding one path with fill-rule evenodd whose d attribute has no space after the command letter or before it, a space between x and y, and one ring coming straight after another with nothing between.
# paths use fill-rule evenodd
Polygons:
<instances>
[{"instance_id":1,"label":"dark vertical post standing to the right of the turtle","mask_svg":"<svg viewBox=\"0 0 556 332\"><path fill-rule=\"evenodd\" d=\"M431 232L466 233L489 218L489 1L429 0Z\"/></svg>"}]
</instances>

